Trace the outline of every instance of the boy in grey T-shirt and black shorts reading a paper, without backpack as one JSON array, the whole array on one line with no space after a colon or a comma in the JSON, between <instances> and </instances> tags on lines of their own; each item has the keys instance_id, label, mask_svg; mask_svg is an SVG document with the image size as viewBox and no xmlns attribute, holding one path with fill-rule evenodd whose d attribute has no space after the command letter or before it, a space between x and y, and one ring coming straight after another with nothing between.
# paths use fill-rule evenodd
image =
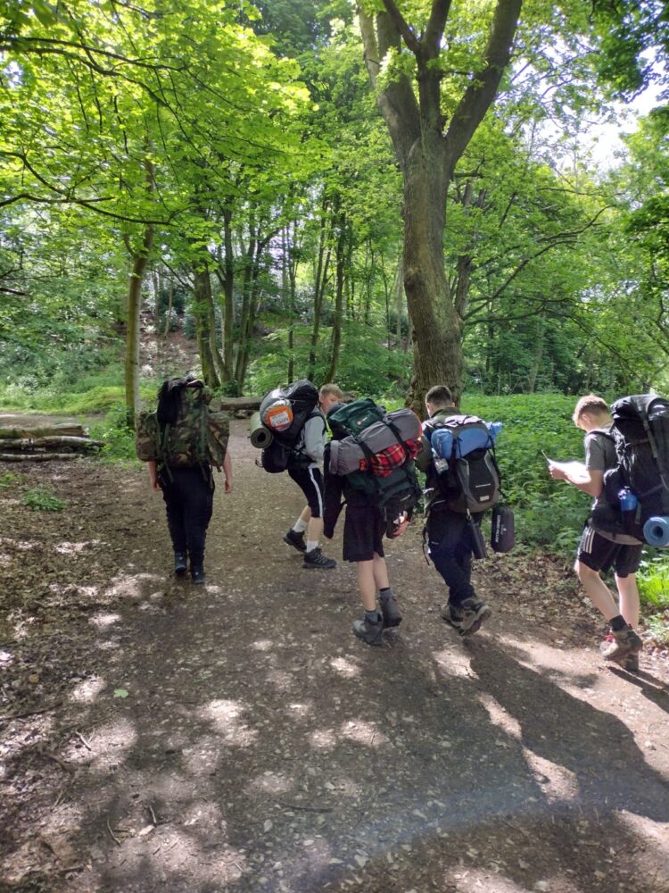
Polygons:
<instances>
[{"instance_id":1,"label":"boy in grey T-shirt and black shorts reading a paper, without backpack","mask_svg":"<svg viewBox=\"0 0 669 893\"><path fill-rule=\"evenodd\" d=\"M635 631L639 624L639 589L635 574L639 570L642 543L629 533L616 532L613 524L606 524L612 527L608 531L602 529L602 522L593 520L593 513L607 507L603 493L604 472L617 465L614 441L609 433L613 419L606 400L588 394L577 402L572 421L576 428L585 431L585 464L549 460L549 474L553 480L566 480L594 497L582 532L574 571L611 630L607 640L602 643L601 655L607 661L620 664L625 670L638 670L643 642ZM618 604L599 576L599 572L606 573L611 568L615 572Z\"/></svg>"}]
</instances>

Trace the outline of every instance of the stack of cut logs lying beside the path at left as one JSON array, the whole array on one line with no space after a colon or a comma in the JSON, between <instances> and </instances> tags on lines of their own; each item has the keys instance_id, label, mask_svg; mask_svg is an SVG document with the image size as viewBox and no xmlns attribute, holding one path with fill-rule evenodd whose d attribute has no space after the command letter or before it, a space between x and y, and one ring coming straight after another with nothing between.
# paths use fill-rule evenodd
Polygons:
<instances>
[{"instance_id":1,"label":"stack of cut logs lying beside the path at left","mask_svg":"<svg viewBox=\"0 0 669 893\"><path fill-rule=\"evenodd\" d=\"M0 428L0 462L46 462L75 459L103 447L81 425L60 424L39 428Z\"/></svg>"}]
</instances>

